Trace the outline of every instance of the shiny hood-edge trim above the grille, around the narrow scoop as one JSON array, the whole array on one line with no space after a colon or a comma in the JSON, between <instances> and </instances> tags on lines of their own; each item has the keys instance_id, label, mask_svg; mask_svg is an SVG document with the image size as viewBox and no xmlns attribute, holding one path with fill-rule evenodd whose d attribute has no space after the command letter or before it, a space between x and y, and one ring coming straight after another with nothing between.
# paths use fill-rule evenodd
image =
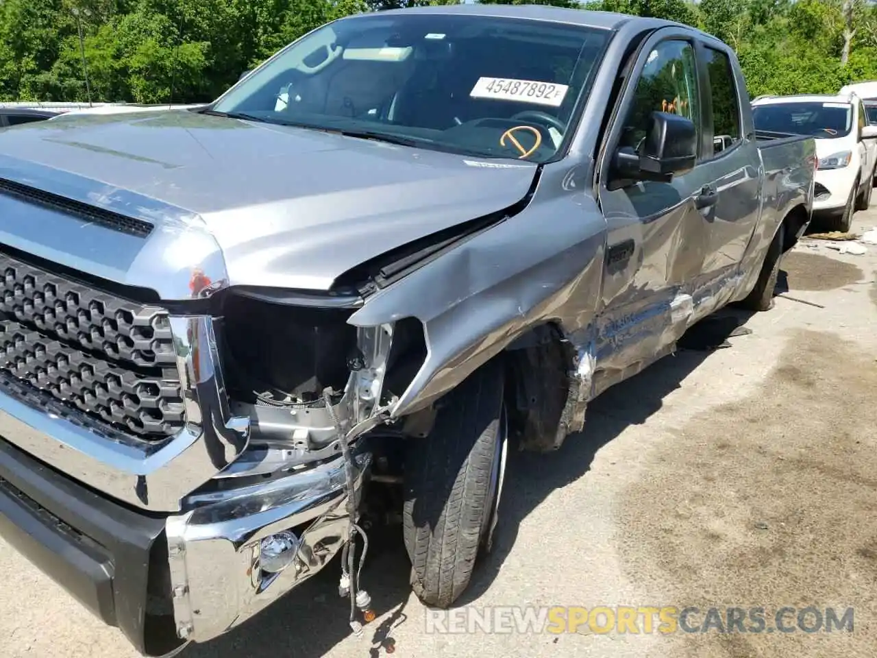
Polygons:
<instances>
[{"instance_id":1,"label":"shiny hood-edge trim above the grille, around the narrow scoop","mask_svg":"<svg viewBox=\"0 0 877 658\"><path fill-rule=\"evenodd\" d=\"M0 243L163 300L210 297L229 284L217 240L196 213L61 168L0 154L0 178L152 223L146 239L0 195Z\"/></svg>"}]
</instances>

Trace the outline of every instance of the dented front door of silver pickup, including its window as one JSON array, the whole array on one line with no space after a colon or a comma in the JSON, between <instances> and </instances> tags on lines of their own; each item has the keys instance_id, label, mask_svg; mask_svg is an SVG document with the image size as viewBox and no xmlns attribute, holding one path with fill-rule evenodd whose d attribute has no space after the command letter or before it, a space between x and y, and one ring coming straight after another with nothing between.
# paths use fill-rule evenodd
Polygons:
<instances>
[{"instance_id":1,"label":"dented front door of silver pickup, including its window","mask_svg":"<svg viewBox=\"0 0 877 658\"><path fill-rule=\"evenodd\" d=\"M705 247L702 167L670 182L612 182L611 158L636 149L652 111L691 119L702 153L702 96L690 32L656 32L638 54L603 148L599 200L608 225L595 387L599 392L665 354L688 326L690 284Z\"/></svg>"}]
</instances>

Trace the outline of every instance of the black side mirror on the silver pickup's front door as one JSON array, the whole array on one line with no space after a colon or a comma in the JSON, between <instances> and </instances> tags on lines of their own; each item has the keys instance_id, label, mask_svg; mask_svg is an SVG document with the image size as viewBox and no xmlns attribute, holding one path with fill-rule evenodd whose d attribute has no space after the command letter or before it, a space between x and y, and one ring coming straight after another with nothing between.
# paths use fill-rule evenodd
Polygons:
<instances>
[{"instance_id":1,"label":"black side mirror on the silver pickup's front door","mask_svg":"<svg viewBox=\"0 0 877 658\"><path fill-rule=\"evenodd\" d=\"M619 150L615 169L621 177L632 180L669 182L675 174L695 168L696 160L694 122L669 112L652 112L637 152Z\"/></svg>"}]
</instances>

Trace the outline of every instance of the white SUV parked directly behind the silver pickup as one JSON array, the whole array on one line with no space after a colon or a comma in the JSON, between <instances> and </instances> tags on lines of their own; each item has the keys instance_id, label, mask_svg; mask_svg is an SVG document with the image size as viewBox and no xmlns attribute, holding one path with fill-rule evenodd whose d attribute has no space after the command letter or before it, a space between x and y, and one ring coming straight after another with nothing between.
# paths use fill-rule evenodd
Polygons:
<instances>
[{"instance_id":1,"label":"white SUV parked directly behind the silver pickup","mask_svg":"<svg viewBox=\"0 0 877 658\"><path fill-rule=\"evenodd\" d=\"M845 96L759 97L752 101L755 127L816 138L819 165L813 211L838 231L849 231L852 214L871 204L877 163L877 125L864 104Z\"/></svg>"}]
</instances>

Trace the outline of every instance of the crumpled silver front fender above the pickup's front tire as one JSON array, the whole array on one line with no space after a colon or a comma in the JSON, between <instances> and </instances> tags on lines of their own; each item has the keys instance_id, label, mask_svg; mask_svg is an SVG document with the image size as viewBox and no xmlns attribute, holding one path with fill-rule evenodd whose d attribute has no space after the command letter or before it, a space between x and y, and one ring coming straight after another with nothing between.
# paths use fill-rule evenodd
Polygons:
<instances>
[{"instance_id":1,"label":"crumpled silver front fender above the pickup's front tire","mask_svg":"<svg viewBox=\"0 0 877 658\"><path fill-rule=\"evenodd\" d=\"M533 325L555 321L572 334L592 323L606 224L568 173L545 168L523 211L369 297L348 320L424 325L426 359L392 416L431 404Z\"/></svg>"}]
</instances>

